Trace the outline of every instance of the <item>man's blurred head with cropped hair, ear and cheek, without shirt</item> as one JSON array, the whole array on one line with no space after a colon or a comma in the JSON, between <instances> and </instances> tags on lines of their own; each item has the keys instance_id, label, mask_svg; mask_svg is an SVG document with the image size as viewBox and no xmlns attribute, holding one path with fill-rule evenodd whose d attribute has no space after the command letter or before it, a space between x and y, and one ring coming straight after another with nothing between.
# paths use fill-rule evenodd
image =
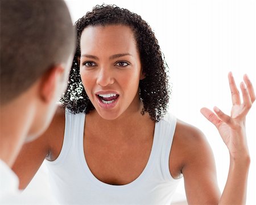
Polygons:
<instances>
[{"instance_id":1,"label":"man's blurred head with cropped hair, ear and cheek, without shirt","mask_svg":"<svg viewBox=\"0 0 256 205\"><path fill-rule=\"evenodd\" d=\"M5 108L31 92L27 102L36 104L36 122L28 134L38 135L51 121L71 67L71 16L63 0L1 0L0 6L0 104Z\"/></svg>"}]
</instances>

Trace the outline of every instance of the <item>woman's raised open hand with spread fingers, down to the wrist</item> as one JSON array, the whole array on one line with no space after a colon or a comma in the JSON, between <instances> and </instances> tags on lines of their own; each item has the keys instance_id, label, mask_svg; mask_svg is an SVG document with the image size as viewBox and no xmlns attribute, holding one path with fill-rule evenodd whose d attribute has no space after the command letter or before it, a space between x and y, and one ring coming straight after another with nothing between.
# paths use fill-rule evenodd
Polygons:
<instances>
[{"instance_id":1,"label":"woman's raised open hand with spread fingers, down to the wrist","mask_svg":"<svg viewBox=\"0 0 256 205\"><path fill-rule=\"evenodd\" d=\"M215 113L208 108L202 108L201 113L217 127L229 149L232 159L245 159L244 157L249 156L246 142L245 119L246 114L255 101L255 93L248 76L244 75L244 82L240 83L243 100L241 102L240 93L234 82L232 72L229 72L228 78L233 102L230 116L223 113L216 106L213 108Z\"/></svg>"}]
</instances>

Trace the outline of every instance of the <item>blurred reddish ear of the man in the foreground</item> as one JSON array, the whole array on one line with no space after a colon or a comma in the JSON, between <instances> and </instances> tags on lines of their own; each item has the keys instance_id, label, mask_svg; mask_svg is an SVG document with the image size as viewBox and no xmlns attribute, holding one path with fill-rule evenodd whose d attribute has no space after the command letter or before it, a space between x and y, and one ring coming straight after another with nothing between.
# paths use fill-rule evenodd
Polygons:
<instances>
[{"instance_id":1,"label":"blurred reddish ear of the man in the foreground","mask_svg":"<svg viewBox=\"0 0 256 205\"><path fill-rule=\"evenodd\" d=\"M55 97L56 89L59 89L59 83L63 81L64 67L57 65L49 69L43 76L40 83L40 97L43 101L49 102Z\"/></svg>"}]
</instances>

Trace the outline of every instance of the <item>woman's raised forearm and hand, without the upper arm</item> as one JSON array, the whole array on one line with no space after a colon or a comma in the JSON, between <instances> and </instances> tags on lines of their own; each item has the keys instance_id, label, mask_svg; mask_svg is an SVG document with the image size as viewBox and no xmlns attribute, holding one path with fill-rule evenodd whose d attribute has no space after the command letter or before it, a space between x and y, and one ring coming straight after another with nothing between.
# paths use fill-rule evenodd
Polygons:
<instances>
[{"instance_id":1,"label":"woman's raised forearm and hand, without the upper arm","mask_svg":"<svg viewBox=\"0 0 256 205\"><path fill-rule=\"evenodd\" d=\"M218 204L246 203L250 155L246 142L245 118L255 101L255 93L247 75L243 77L243 80L245 83L240 84L243 99L241 103L240 93L233 75L231 72L229 73L229 85L233 102L230 116L224 114L217 107L214 107L216 114L207 108L201 109L201 113L217 127L230 154L228 180Z\"/></svg>"}]
</instances>

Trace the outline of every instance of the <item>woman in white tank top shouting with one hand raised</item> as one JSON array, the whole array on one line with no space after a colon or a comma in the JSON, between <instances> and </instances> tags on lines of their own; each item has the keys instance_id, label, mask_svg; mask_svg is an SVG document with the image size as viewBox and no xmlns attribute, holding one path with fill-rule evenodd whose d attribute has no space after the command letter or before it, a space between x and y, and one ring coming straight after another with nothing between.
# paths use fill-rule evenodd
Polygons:
<instances>
[{"instance_id":1,"label":"woman in white tank top shouting with one hand raised","mask_svg":"<svg viewBox=\"0 0 256 205\"><path fill-rule=\"evenodd\" d=\"M245 117L255 100L249 78L240 86L241 104L229 74L231 117L218 108L216 114L201 109L230 152L220 194L203 133L166 114L166 64L149 25L126 9L103 5L76 28L77 52L61 99L66 110L60 108L46 133L20 153L14 166L20 187L46 158L60 203L170 204L182 176L189 204L245 203L250 164Z\"/></svg>"}]
</instances>

